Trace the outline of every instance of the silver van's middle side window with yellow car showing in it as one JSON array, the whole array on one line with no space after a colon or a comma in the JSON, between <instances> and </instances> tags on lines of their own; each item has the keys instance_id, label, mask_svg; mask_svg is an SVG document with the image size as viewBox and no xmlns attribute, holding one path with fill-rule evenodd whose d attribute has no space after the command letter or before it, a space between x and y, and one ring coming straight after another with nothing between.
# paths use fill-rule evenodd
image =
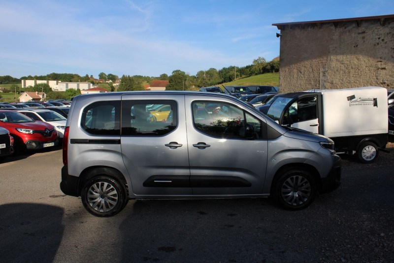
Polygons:
<instances>
[{"instance_id":1,"label":"silver van's middle side window with yellow car showing in it","mask_svg":"<svg viewBox=\"0 0 394 263\"><path fill-rule=\"evenodd\" d=\"M178 107L172 100L122 102L122 135L162 136L177 126Z\"/></svg>"}]
</instances>

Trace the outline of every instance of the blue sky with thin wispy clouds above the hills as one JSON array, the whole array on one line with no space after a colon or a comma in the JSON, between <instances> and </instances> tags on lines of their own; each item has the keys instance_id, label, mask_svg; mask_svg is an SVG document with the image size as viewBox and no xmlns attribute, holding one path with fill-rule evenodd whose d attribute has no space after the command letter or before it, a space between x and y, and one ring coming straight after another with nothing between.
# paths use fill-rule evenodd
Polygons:
<instances>
[{"instance_id":1,"label":"blue sky with thin wispy clouds above the hills","mask_svg":"<svg viewBox=\"0 0 394 263\"><path fill-rule=\"evenodd\" d=\"M389 14L393 0L0 0L0 75L196 75L279 56L272 24Z\"/></svg>"}]
</instances>

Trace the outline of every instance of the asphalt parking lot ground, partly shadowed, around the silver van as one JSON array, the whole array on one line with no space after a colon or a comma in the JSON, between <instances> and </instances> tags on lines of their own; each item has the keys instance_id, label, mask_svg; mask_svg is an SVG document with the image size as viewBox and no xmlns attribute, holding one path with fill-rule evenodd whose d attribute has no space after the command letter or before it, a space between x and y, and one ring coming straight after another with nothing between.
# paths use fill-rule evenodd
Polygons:
<instances>
[{"instance_id":1,"label":"asphalt parking lot ground, partly shadowed, around the silver van","mask_svg":"<svg viewBox=\"0 0 394 263\"><path fill-rule=\"evenodd\" d=\"M394 144L343 156L342 185L302 211L269 199L129 201L97 218L59 188L62 150L0 161L1 262L393 262Z\"/></svg>"}]
</instances>

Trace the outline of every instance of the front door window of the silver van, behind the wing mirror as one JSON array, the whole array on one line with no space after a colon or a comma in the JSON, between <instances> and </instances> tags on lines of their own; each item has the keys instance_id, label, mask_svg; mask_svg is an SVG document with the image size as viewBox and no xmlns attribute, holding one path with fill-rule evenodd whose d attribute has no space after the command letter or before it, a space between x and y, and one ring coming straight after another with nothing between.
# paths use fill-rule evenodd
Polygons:
<instances>
[{"instance_id":1,"label":"front door window of the silver van, behind the wing mirror","mask_svg":"<svg viewBox=\"0 0 394 263\"><path fill-rule=\"evenodd\" d=\"M255 132L261 134L260 120L230 104L194 102L192 107L194 126L208 135L244 138L245 125L249 122L255 127Z\"/></svg>"}]
</instances>

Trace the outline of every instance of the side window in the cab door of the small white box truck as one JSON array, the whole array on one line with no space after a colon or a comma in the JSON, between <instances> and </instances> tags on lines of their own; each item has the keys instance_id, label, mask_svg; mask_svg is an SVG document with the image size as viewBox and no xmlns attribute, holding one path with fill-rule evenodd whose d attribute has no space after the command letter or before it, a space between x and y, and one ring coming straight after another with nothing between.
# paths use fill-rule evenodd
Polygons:
<instances>
[{"instance_id":1,"label":"side window in the cab door of the small white box truck","mask_svg":"<svg viewBox=\"0 0 394 263\"><path fill-rule=\"evenodd\" d=\"M284 125L317 118L317 97L303 97L287 108L282 123Z\"/></svg>"}]
</instances>

